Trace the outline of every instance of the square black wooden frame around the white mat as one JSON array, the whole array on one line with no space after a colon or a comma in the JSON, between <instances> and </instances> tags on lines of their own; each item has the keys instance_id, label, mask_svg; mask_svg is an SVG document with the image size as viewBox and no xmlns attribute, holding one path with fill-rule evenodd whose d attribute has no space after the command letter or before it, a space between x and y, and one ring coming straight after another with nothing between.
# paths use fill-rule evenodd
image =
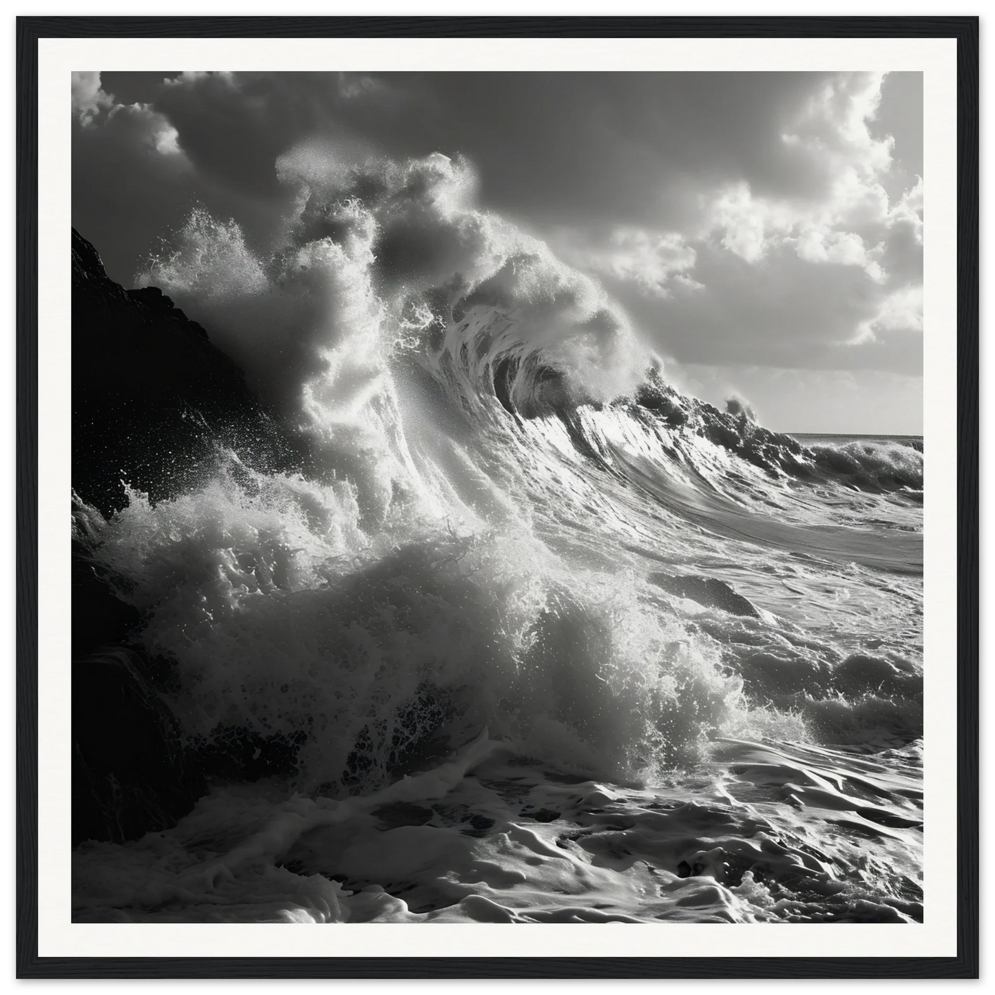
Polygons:
<instances>
[{"instance_id":1,"label":"square black wooden frame around the white mat","mask_svg":"<svg viewBox=\"0 0 995 995\"><path fill-rule=\"evenodd\" d=\"M981 17L984 15L981 14ZM12 985L74 979L602 979L606 990L637 979L979 978L979 38L977 15L881 16L92 16L13 15L16 46L16 943ZM38 48L40 38L296 37L863 37L957 42L957 954L954 957L136 957L38 955ZM12 227L8 222L8 231ZM11 457L13 454L11 454ZM9 457L10 458L10 457ZM987 719L987 716L986 716ZM57 980L58 979L58 980ZM515 980L517 979L517 980ZM183 984L182 981L179 982ZM285 982L286 983L286 982ZM804 984L804 981L802 982ZM186 986L191 986L187 981ZM668 987L680 986L672 981ZM911 986L909 986L911 987Z\"/></svg>"}]
</instances>

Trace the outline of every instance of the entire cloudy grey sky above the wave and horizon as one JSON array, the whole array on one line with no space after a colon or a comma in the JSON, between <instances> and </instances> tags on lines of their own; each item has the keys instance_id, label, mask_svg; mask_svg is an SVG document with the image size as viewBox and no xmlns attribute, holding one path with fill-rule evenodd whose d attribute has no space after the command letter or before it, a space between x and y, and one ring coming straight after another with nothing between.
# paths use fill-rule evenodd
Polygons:
<instances>
[{"instance_id":1,"label":"entire cloudy grey sky above the wave and horizon","mask_svg":"<svg viewBox=\"0 0 995 995\"><path fill-rule=\"evenodd\" d=\"M460 154L683 389L921 432L921 74L82 73L73 127L73 223L125 286L197 206L265 253L302 142Z\"/></svg>"}]
</instances>

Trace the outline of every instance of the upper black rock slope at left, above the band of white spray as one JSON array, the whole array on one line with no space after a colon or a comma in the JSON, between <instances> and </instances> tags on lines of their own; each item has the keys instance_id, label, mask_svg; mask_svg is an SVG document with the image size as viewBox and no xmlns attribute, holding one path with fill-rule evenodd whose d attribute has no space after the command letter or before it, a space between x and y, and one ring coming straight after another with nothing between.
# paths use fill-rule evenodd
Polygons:
<instances>
[{"instance_id":1,"label":"upper black rock slope at left, above the band of white spray","mask_svg":"<svg viewBox=\"0 0 995 995\"><path fill-rule=\"evenodd\" d=\"M154 287L126 291L73 231L73 487L109 514L122 481L153 500L195 486L217 448L292 469L297 433L269 413L207 332Z\"/></svg>"}]
</instances>

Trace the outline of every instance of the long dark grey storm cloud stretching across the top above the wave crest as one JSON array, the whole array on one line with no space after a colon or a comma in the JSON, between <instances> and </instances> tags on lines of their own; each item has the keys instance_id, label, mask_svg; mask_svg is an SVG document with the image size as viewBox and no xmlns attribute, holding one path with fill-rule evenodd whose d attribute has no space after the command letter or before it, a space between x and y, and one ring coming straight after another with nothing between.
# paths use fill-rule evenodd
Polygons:
<instances>
[{"instance_id":1,"label":"long dark grey storm cloud stretching across the top above the wave crest","mask_svg":"<svg viewBox=\"0 0 995 995\"><path fill-rule=\"evenodd\" d=\"M484 202L534 223L679 223L686 193L746 178L763 193L820 196L819 159L780 128L822 74L106 74L180 132L207 175L275 193L274 161L317 133L362 136L394 156L471 158Z\"/></svg>"}]
</instances>

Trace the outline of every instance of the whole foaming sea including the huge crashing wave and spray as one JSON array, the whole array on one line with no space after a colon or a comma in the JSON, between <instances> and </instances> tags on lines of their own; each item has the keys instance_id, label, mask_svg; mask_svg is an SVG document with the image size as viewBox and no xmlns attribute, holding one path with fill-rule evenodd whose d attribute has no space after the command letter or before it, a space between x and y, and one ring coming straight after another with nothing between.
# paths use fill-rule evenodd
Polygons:
<instances>
[{"instance_id":1,"label":"whole foaming sea including the huge crashing wave and spray","mask_svg":"<svg viewBox=\"0 0 995 995\"><path fill-rule=\"evenodd\" d=\"M313 465L74 529L187 740L293 771L79 845L75 920L920 921L921 439L682 395L459 162L281 168L281 245L198 212L137 284Z\"/></svg>"}]
</instances>

